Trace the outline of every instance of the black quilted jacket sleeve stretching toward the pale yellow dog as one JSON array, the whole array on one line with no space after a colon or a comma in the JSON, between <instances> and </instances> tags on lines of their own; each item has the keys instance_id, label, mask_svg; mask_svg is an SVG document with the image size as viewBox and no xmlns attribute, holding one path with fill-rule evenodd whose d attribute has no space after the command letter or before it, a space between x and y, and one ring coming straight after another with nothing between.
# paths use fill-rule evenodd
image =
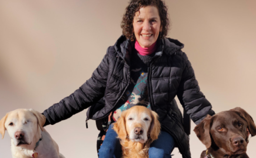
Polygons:
<instances>
[{"instance_id":1,"label":"black quilted jacket sleeve stretching toward the pale yellow dog","mask_svg":"<svg viewBox=\"0 0 256 158\"><path fill-rule=\"evenodd\" d=\"M104 96L108 72L109 59L106 54L89 80L70 96L43 112L43 115L46 116L45 126L65 120L100 100Z\"/></svg>"}]
</instances>

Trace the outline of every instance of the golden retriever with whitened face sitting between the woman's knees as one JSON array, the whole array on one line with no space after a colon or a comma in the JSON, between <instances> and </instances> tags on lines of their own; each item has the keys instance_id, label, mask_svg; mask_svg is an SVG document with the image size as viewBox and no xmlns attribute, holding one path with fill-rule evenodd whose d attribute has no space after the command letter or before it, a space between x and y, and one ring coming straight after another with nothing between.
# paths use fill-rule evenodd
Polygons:
<instances>
[{"instance_id":1,"label":"golden retriever with whitened face sitting between the woman's knees","mask_svg":"<svg viewBox=\"0 0 256 158\"><path fill-rule=\"evenodd\" d=\"M113 129L122 145L123 158L148 158L150 144L160 133L158 115L143 106L123 111Z\"/></svg>"}]
</instances>

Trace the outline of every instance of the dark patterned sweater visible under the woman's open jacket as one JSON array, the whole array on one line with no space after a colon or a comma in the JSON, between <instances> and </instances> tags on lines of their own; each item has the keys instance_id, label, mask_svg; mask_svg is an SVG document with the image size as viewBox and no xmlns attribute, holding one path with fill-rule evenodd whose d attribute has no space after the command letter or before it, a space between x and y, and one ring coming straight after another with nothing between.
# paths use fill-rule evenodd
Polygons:
<instances>
[{"instance_id":1,"label":"dark patterned sweater visible under the woman's open jacket","mask_svg":"<svg viewBox=\"0 0 256 158\"><path fill-rule=\"evenodd\" d=\"M112 121L117 121L122 111L136 105L151 109L147 93L147 69L154 55L155 53L143 56L140 55L136 49L132 51L131 80L126 92L119 101L117 109L112 113Z\"/></svg>"}]
</instances>

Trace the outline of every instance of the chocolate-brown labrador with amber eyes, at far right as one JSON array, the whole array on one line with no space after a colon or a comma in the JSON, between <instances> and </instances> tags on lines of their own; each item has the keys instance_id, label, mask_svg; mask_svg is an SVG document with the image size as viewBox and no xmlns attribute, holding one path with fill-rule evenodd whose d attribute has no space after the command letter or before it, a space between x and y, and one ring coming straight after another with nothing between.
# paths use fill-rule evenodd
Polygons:
<instances>
[{"instance_id":1,"label":"chocolate-brown labrador with amber eyes, at far right","mask_svg":"<svg viewBox=\"0 0 256 158\"><path fill-rule=\"evenodd\" d=\"M247 129L252 136L256 135L252 117L242 108L208 115L194 129L207 148L200 158L249 158Z\"/></svg>"}]
</instances>

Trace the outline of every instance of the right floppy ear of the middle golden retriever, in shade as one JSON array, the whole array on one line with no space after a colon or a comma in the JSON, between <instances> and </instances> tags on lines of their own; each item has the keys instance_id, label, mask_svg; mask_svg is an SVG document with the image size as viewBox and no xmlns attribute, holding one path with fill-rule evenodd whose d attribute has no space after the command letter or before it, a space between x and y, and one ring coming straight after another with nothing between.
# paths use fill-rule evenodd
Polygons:
<instances>
[{"instance_id":1,"label":"right floppy ear of the middle golden retriever, in shade","mask_svg":"<svg viewBox=\"0 0 256 158\"><path fill-rule=\"evenodd\" d=\"M150 126L150 137L154 141L158 138L158 135L161 130L161 125L160 122L158 121L158 115L155 111L151 111L151 117L152 117L152 122Z\"/></svg>"}]
</instances>

